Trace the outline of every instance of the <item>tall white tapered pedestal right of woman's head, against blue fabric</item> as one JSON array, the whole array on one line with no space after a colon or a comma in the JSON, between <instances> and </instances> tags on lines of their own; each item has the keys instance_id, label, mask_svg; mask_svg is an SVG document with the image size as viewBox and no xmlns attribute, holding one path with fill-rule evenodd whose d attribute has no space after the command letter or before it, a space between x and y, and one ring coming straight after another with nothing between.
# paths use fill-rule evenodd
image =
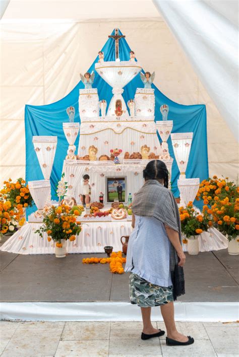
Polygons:
<instances>
[{"instance_id":1,"label":"tall white tapered pedestal right of woman's head, against blue fabric","mask_svg":"<svg viewBox=\"0 0 239 357\"><path fill-rule=\"evenodd\" d=\"M180 180L185 179L193 140L193 132L173 133L171 134L171 140L176 163L180 170Z\"/></svg>"}]
</instances>

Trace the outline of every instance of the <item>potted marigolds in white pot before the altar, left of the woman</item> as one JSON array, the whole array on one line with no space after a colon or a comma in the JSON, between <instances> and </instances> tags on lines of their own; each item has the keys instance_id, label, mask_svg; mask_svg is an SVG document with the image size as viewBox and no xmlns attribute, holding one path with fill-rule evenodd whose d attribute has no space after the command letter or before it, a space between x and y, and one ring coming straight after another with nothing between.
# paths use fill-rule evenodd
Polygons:
<instances>
[{"instance_id":1,"label":"potted marigolds in white pot before the altar, left of the woman","mask_svg":"<svg viewBox=\"0 0 239 357\"><path fill-rule=\"evenodd\" d=\"M79 210L74 210L70 213L71 207L68 205L60 205L58 207L51 206L49 211L45 213L43 225L35 233L43 237L43 233L47 233L47 240L55 242L56 258L65 258L66 241L74 241L76 235L81 232L81 223L77 221L77 216L80 215Z\"/></svg>"}]
</instances>

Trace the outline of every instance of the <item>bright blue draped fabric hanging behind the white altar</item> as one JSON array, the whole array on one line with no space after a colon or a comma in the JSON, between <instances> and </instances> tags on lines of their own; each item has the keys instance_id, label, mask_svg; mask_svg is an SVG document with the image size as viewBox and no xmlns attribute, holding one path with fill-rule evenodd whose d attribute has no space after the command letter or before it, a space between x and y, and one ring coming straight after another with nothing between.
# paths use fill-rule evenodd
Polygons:
<instances>
[{"instance_id":1,"label":"bright blue draped fabric hanging behind the white altar","mask_svg":"<svg viewBox=\"0 0 239 357\"><path fill-rule=\"evenodd\" d=\"M122 35L121 31L119 33ZM112 31L112 35L114 31ZM120 59L129 60L129 47L125 38L120 39ZM114 40L109 38L102 48L105 61L115 60ZM95 63L98 62L98 56L90 66L88 72L94 70ZM147 68L144 68L147 70ZM112 98L112 88L95 72L94 88L98 89L99 99L105 99L109 104ZM157 74L156 74L157 76ZM127 102L134 98L136 88L142 88L140 74L131 81L125 88L123 97ZM32 144L33 135L56 135L57 148L55 153L54 164L51 173L51 194L56 199L55 189L57 181L61 178L63 162L66 157L68 142L63 131L63 122L69 121L66 109L74 106L75 122L80 122L79 117L79 89L84 88L80 81L76 87L63 99L48 105L25 106L25 130L26 130L26 180L43 179L41 168L38 163L36 153ZM168 120L173 120L172 132L193 132L193 142L189 157L189 163L186 170L187 178L199 177L203 180L208 177L208 155L207 155L207 126L206 126L206 107L205 105L181 105L171 101L159 91L155 85L155 120L162 120L162 114L159 110L162 104L169 107ZM174 159L171 139L168 139L170 156ZM79 139L75 142L78 150ZM76 152L77 152L76 150ZM178 197L177 179L179 170L176 161L172 166L172 192ZM35 208L29 209L28 214Z\"/></svg>"}]
</instances>

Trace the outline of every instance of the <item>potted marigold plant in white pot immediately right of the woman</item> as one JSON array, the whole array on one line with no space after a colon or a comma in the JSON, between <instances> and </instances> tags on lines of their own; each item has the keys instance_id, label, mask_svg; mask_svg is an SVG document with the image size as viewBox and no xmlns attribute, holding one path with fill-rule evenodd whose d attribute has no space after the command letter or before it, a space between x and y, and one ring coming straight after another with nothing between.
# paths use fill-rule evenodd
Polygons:
<instances>
[{"instance_id":1,"label":"potted marigold plant in white pot immediately right of the woman","mask_svg":"<svg viewBox=\"0 0 239 357\"><path fill-rule=\"evenodd\" d=\"M189 202L187 207L180 207L180 220L181 231L186 237L183 240L188 244L188 253L191 255L197 255L199 253L199 241L198 236L207 231L212 225L208 215L200 215L199 212L193 208L193 202ZM211 222L211 223L209 223Z\"/></svg>"}]
</instances>

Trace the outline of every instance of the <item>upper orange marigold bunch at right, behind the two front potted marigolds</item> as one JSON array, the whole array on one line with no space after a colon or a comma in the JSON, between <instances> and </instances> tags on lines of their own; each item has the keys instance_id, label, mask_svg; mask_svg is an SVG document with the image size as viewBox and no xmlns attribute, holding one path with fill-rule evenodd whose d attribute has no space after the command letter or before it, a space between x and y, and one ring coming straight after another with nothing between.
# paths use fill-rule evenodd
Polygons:
<instances>
[{"instance_id":1,"label":"upper orange marigold bunch at right, behind the two front potted marigolds","mask_svg":"<svg viewBox=\"0 0 239 357\"><path fill-rule=\"evenodd\" d=\"M224 199L227 196L233 199L237 194L238 187L234 182L229 181L228 177L224 179L213 176L212 179L208 178L200 183L196 200L202 199L204 204L212 205L215 201Z\"/></svg>"}]
</instances>

